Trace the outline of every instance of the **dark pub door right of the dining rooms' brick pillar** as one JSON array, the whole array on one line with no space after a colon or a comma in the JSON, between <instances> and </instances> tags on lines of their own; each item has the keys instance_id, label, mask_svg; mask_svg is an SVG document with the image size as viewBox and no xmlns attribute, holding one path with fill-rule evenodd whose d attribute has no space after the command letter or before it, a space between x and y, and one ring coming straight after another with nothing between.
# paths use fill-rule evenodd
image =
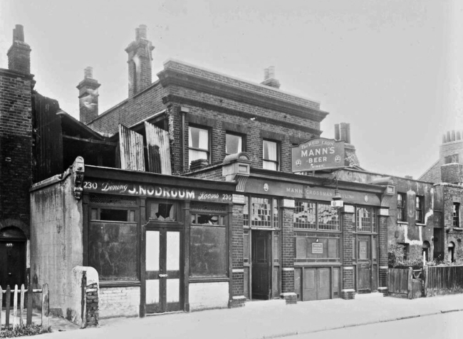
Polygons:
<instances>
[{"instance_id":1,"label":"dark pub door right of the dining rooms' brick pillar","mask_svg":"<svg viewBox=\"0 0 463 339\"><path fill-rule=\"evenodd\" d=\"M251 231L251 298L271 298L271 231Z\"/></svg>"}]
</instances>

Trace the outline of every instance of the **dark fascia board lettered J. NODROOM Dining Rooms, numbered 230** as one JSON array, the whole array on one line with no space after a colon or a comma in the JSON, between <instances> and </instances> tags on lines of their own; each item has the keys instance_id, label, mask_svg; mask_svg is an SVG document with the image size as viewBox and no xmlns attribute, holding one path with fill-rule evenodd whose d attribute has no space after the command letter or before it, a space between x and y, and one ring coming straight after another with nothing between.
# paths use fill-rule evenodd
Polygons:
<instances>
[{"instance_id":1,"label":"dark fascia board lettered J. NODROOM Dining Rooms, numbered 230","mask_svg":"<svg viewBox=\"0 0 463 339\"><path fill-rule=\"evenodd\" d=\"M170 187L162 184L138 184L104 179L87 179L83 182L83 192L121 194L135 197L161 199L181 199L204 202L231 202L232 194L189 187Z\"/></svg>"}]
</instances>

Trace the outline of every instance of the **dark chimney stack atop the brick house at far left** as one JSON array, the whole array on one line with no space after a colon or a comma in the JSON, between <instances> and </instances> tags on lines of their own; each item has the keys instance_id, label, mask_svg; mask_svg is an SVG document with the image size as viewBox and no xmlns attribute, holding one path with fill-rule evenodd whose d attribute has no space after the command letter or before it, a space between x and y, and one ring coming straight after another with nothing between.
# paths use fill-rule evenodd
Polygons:
<instances>
[{"instance_id":1,"label":"dark chimney stack atop the brick house at far left","mask_svg":"<svg viewBox=\"0 0 463 339\"><path fill-rule=\"evenodd\" d=\"M8 68L24 74L31 74L31 47L24 42L24 27L16 25L13 28L13 43L6 53Z\"/></svg>"}]
</instances>

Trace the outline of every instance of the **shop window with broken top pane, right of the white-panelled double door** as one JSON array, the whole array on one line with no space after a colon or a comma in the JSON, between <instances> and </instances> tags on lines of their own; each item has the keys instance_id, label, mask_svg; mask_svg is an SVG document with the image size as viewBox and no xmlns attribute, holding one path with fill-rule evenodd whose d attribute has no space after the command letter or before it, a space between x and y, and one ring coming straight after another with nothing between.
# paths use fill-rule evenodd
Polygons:
<instances>
[{"instance_id":1,"label":"shop window with broken top pane, right of the white-panelled double door","mask_svg":"<svg viewBox=\"0 0 463 339\"><path fill-rule=\"evenodd\" d=\"M190 229L190 276L228 276L228 245L225 215L192 212Z\"/></svg>"}]
</instances>

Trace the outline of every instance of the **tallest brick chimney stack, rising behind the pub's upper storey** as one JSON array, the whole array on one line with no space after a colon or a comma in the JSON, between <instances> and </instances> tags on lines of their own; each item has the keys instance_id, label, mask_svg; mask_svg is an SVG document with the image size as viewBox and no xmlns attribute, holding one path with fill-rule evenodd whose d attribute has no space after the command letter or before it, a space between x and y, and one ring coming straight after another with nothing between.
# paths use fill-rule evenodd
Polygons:
<instances>
[{"instance_id":1,"label":"tallest brick chimney stack, rising behind the pub's upper storey","mask_svg":"<svg viewBox=\"0 0 463 339\"><path fill-rule=\"evenodd\" d=\"M151 61L152 46L147 40L147 27L140 25L135 28L135 41L125 48L129 64L129 98L140 93L152 83Z\"/></svg>"}]
</instances>

